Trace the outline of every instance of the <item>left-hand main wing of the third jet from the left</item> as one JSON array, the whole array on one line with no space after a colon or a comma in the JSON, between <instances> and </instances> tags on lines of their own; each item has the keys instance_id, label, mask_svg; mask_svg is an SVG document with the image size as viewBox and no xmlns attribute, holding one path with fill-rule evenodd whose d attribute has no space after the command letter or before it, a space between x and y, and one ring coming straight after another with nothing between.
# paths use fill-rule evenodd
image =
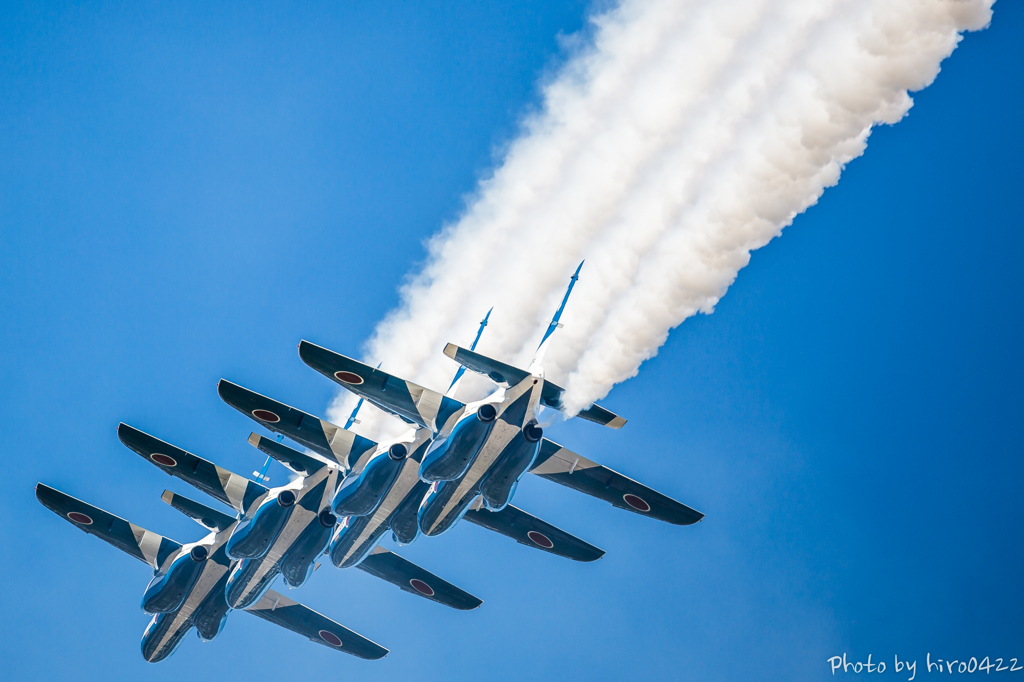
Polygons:
<instances>
[{"instance_id":1,"label":"left-hand main wing of the third jet from the left","mask_svg":"<svg viewBox=\"0 0 1024 682\"><path fill-rule=\"evenodd\" d=\"M360 457L372 454L377 447L377 443L370 438L346 431L331 422L260 395L226 379L217 383L217 392L224 402L257 424L337 462L344 469L355 467Z\"/></svg>"}]
</instances>

